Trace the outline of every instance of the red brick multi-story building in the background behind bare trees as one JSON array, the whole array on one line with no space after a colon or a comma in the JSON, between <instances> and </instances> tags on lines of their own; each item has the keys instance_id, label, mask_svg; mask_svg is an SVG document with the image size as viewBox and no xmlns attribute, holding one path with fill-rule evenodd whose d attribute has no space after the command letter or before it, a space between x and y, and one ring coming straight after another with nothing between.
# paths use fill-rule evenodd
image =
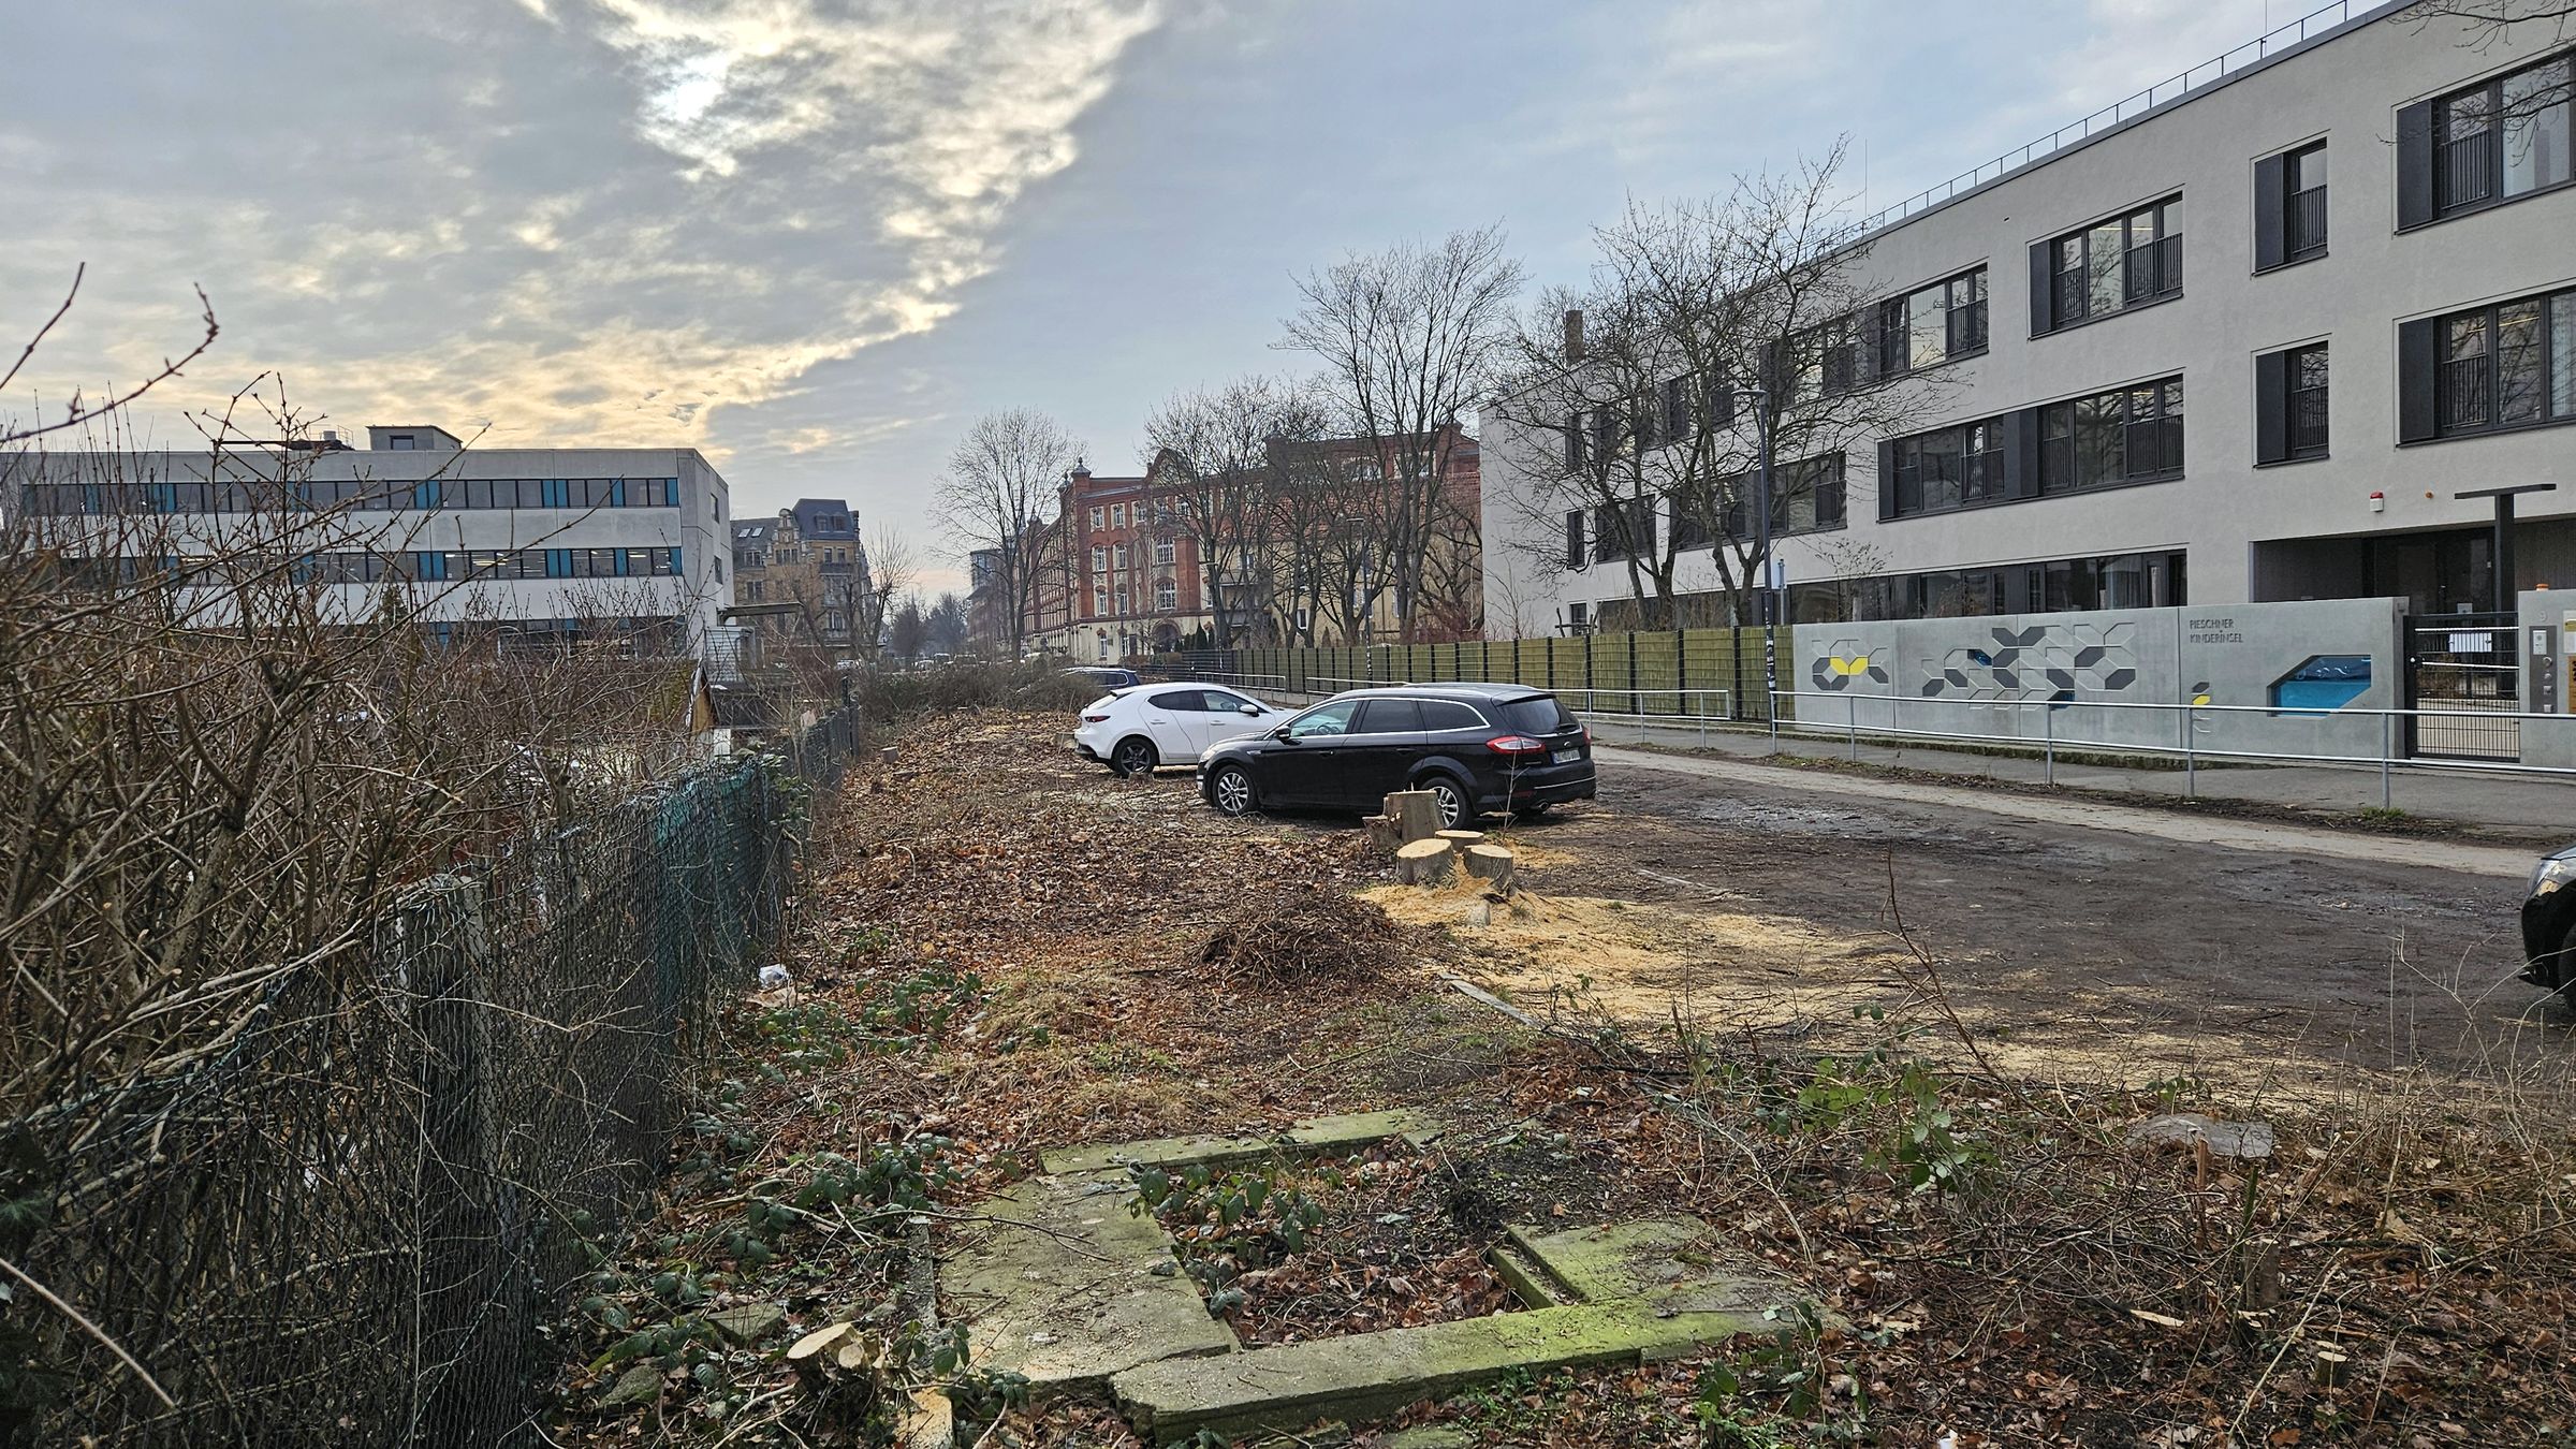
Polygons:
<instances>
[{"instance_id":1,"label":"red brick multi-story building in the background behind bare trees","mask_svg":"<svg viewBox=\"0 0 2576 1449\"><path fill-rule=\"evenodd\" d=\"M1327 438L1275 454L1260 490L1257 536L1216 539L1198 526L1208 500L1172 454L1144 474L1074 467L1056 518L1041 529L1025 634L1082 660L1280 639L1391 639L1394 446ZM1453 431L1430 449L1443 467L1437 508L1404 511L1422 534L1417 639L1473 637L1481 606L1479 449ZM1422 518L1427 513L1427 518ZM1218 580L1216 588L1208 578Z\"/></svg>"}]
</instances>

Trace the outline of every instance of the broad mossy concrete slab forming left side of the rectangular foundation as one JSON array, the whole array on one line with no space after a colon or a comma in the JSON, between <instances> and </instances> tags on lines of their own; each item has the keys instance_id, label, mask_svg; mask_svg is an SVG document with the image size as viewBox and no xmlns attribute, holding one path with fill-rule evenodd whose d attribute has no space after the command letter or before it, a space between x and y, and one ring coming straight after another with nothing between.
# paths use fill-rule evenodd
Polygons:
<instances>
[{"instance_id":1,"label":"broad mossy concrete slab forming left side of the rectangular foundation","mask_svg":"<svg viewBox=\"0 0 2576 1449\"><path fill-rule=\"evenodd\" d=\"M1236 1348L1180 1274L1170 1232L1128 1212L1131 1199L1123 1176L1054 1176L981 1204L997 1222L963 1232L940 1263L976 1366L1025 1374L1033 1390L1090 1390L1136 1364Z\"/></svg>"}]
</instances>

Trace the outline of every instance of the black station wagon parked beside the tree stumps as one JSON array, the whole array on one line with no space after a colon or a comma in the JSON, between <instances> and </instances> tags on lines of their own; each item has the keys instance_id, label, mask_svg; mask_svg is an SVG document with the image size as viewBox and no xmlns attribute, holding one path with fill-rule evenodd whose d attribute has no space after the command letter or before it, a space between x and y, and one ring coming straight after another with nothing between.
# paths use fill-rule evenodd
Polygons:
<instances>
[{"instance_id":1,"label":"black station wagon parked beside the tree stumps","mask_svg":"<svg viewBox=\"0 0 2576 1449\"><path fill-rule=\"evenodd\" d=\"M1592 730L1553 694L1517 683L1352 688L1198 766L1198 792L1218 815L1376 810L1396 789L1432 792L1443 828L1502 812L1528 820L1592 799Z\"/></svg>"}]
</instances>

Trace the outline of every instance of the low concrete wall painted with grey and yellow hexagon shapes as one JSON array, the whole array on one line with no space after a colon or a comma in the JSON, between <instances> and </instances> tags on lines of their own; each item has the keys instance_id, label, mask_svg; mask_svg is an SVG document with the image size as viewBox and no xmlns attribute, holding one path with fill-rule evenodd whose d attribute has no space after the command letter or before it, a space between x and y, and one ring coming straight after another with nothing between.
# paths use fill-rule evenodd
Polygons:
<instances>
[{"instance_id":1,"label":"low concrete wall painted with grey and yellow hexagon shapes","mask_svg":"<svg viewBox=\"0 0 2576 1449\"><path fill-rule=\"evenodd\" d=\"M2378 758L2380 717L2352 712L2403 699L2393 598L1798 624L1790 634L1783 688L1795 683L1798 722L1814 730L1852 722L2166 750L2190 737L2197 750ZM2269 709L2275 683L2316 655L2367 657L2370 686L2342 709Z\"/></svg>"}]
</instances>

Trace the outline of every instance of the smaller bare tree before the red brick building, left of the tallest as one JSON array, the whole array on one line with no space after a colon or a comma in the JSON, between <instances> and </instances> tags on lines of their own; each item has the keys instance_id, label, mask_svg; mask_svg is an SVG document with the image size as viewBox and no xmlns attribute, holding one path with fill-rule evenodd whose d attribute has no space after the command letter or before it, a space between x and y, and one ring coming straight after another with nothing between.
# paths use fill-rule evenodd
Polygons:
<instances>
[{"instance_id":1,"label":"smaller bare tree before the red brick building, left of the tallest","mask_svg":"<svg viewBox=\"0 0 2576 1449\"><path fill-rule=\"evenodd\" d=\"M1221 650L1273 642L1283 485L1275 454L1324 431L1327 407L1314 387L1273 376L1177 392L1146 418L1144 464L1157 490L1170 490L1157 531L1198 552Z\"/></svg>"}]
</instances>

